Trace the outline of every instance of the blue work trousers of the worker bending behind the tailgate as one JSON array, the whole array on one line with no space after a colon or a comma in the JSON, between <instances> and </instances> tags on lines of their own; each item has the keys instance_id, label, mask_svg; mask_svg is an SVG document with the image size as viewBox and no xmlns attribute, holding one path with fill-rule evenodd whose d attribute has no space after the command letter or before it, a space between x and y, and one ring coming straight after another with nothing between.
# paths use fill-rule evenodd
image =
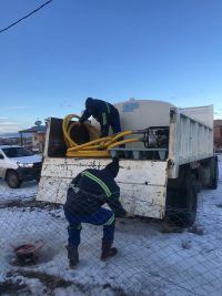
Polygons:
<instances>
[{"instance_id":1,"label":"blue work trousers of the worker bending behind the tailgate","mask_svg":"<svg viewBox=\"0 0 222 296\"><path fill-rule=\"evenodd\" d=\"M102 241L113 242L114 239L114 226L115 218L113 212L101 207L94 215L80 217L73 215L69 212L64 212L65 218L69 222L68 226L68 235L69 235L69 244L73 246L79 246L80 244L80 232L81 232L81 223L89 223L92 225L103 225L103 237Z\"/></svg>"}]
</instances>

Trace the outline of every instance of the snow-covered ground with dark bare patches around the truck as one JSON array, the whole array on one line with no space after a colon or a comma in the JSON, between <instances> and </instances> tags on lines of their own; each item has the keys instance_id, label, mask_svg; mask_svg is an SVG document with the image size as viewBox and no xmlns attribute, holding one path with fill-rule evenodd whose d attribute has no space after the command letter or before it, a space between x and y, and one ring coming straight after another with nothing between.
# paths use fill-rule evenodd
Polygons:
<instances>
[{"instance_id":1,"label":"snow-covered ground with dark bare patches around the truck","mask_svg":"<svg viewBox=\"0 0 222 296\"><path fill-rule=\"evenodd\" d=\"M219 188L199 194L193 227L165 232L160 222L119 220L119 254L103 263L102 229L84 224L74 271L68 268L61 207L29 201L0 208L0 295L222 295L222 156L219 165ZM29 198L36 191L36 183L12 191L0 182L0 204ZM38 239L44 242L38 265L10 264L14 246Z\"/></svg>"}]
</instances>

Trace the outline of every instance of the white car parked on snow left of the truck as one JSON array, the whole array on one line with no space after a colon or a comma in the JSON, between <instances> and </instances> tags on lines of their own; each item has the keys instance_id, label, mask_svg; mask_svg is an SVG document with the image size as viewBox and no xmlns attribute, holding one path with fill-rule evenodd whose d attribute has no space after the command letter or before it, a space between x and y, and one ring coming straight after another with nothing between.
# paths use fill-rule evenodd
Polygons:
<instances>
[{"instance_id":1,"label":"white car parked on snow left of the truck","mask_svg":"<svg viewBox=\"0 0 222 296\"><path fill-rule=\"evenodd\" d=\"M0 177L11 188L19 188L23 181L40 180L42 156L19 145L0 145Z\"/></svg>"}]
</instances>

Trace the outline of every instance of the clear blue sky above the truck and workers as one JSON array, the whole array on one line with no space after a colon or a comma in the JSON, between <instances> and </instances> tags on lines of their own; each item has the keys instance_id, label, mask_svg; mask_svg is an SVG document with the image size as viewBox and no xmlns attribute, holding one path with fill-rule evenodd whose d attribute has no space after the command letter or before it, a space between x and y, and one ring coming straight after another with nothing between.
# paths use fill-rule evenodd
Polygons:
<instances>
[{"instance_id":1,"label":"clear blue sky above the truck and workers","mask_svg":"<svg viewBox=\"0 0 222 296\"><path fill-rule=\"evenodd\" d=\"M0 30L46 0L0 0ZM0 133L80 114L88 96L214 105L221 0L53 0L0 33Z\"/></svg>"}]
</instances>

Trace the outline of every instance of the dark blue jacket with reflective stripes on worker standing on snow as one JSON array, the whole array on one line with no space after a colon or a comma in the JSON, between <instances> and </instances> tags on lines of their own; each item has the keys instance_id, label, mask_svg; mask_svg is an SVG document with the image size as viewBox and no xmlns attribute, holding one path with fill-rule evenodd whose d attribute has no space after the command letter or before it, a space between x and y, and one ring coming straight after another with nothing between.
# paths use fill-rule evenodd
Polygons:
<instances>
[{"instance_id":1,"label":"dark blue jacket with reflective stripes on worker standing on snow","mask_svg":"<svg viewBox=\"0 0 222 296\"><path fill-rule=\"evenodd\" d=\"M125 215L119 201L120 188L108 170L85 170L73 178L71 185L77 186L79 192L72 187L68 190L64 210L73 215L93 215L105 203L115 216Z\"/></svg>"}]
</instances>

